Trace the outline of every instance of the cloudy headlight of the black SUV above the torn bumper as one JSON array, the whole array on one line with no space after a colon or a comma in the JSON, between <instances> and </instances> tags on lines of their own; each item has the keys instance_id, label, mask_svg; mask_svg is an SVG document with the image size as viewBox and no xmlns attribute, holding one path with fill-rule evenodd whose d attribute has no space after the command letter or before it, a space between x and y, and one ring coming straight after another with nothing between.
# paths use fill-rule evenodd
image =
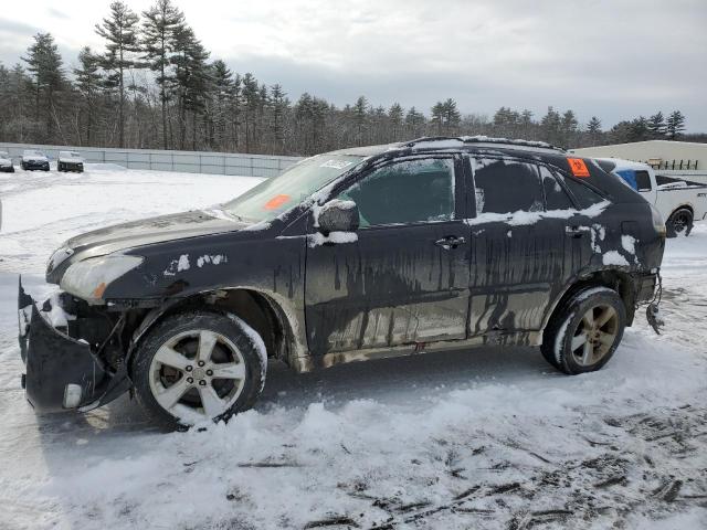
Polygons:
<instances>
[{"instance_id":1,"label":"cloudy headlight of the black SUV above the torn bumper","mask_svg":"<svg viewBox=\"0 0 707 530\"><path fill-rule=\"evenodd\" d=\"M101 301L106 287L143 263L139 256L123 254L92 257L70 266L60 283L61 288L86 301Z\"/></svg>"}]
</instances>

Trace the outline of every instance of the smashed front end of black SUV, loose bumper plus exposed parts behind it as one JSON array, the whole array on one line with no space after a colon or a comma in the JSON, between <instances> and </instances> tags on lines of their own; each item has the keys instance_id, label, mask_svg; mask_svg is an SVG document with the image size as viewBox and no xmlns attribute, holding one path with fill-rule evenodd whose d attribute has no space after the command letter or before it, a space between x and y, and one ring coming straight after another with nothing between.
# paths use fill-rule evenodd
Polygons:
<instances>
[{"instance_id":1,"label":"smashed front end of black SUV, loose bumper plus exposed parts behind it","mask_svg":"<svg viewBox=\"0 0 707 530\"><path fill-rule=\"evenodd\" d=\"M118 331L122 319L113 322L99 316L67 315L64 298L56 295L40 309L20 279L19 341L27 367L22 379L28 401L38 412L86 412L131 386L125 363L112 365L98 354ZM101 337L107 338L101 341Z\"/></svg>"}]
</instances>

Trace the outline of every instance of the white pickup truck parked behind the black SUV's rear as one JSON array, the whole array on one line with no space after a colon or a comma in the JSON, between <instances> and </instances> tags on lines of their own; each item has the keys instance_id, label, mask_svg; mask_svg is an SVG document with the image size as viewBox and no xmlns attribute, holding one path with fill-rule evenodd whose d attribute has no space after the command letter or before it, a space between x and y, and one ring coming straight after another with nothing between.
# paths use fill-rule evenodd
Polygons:
<instances>
[{"instance_id":1,"label":"white pickup truck parked behind the black SUV's rear","mask_svg":"<svg viewBox=\"0 0 707 530\"><path fill-rule=\"evenodd\" d=\"M706 184L656 177L651 166L631 160L600 158L597 161L655 205L665 220L668 237L689 235L695 221L707 220Z\"/></svg>"}]
</instances>

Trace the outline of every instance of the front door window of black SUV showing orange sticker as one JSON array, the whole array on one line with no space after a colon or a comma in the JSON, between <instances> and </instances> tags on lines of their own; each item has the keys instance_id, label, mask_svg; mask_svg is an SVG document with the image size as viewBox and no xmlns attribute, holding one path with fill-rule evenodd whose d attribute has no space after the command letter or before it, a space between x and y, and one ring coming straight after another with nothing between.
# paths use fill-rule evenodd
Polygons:
<instances>
[{"instance_id":1,"label":"front door window of black SUV showing orange sticker","mask_svg":"<svg viewBox=\"0 0 707 530\"><path fill-rule=\"evenodd\" d=\"M365 177L339 198L356 202L361 226L450 220L454 216L454 161L392 163Z\"/></svg>"}]
</instances>

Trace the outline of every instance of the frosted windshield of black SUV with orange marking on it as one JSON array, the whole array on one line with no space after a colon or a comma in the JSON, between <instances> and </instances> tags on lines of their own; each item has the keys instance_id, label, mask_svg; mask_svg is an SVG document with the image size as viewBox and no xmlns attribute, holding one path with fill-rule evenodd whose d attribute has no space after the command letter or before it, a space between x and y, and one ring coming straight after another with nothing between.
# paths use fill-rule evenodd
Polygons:
<instances>
[{"instance_id":1,"label":"frosted windshield of black SUV with orange marking on it","mask_svg":"<svg viewBox=\"0 0 707 530\"><path fill-rule=\"evenodd\" d=\"M223 209L244 221L270 221L299 204L363 159L365 157L352 155L318 155L308 158L226 202Z\"/></svg>"}]
</instances>

